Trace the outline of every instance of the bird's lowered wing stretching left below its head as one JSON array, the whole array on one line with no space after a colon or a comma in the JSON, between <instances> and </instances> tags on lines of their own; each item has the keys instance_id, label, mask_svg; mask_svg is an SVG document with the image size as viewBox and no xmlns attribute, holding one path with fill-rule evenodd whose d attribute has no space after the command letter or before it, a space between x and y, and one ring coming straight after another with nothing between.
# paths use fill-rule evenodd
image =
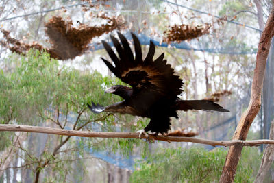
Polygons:
<instances>
[{"instance_id":1,"label":"bird's lowered wing stretching left below its head","mask_svg":"<svg viewBox=\"0 0 274 183\"><path fill-rule=\"evenodd\" d=\"M87 103L88 104L88 103ZM127 105L125 101L114 103L110 106L100 106L92 102L92 106L88 104L88 108L97 114L101 112L119 112L121 114L132 114L133 116L142 116L138 110Z\"/></svg>"}]
</instances>

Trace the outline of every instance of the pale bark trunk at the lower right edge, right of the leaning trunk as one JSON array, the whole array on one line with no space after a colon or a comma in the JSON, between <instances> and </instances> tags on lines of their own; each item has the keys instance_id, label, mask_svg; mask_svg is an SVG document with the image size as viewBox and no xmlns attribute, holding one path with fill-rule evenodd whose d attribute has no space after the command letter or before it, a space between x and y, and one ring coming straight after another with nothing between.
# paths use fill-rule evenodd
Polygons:
<instances>
[{"instance_id":1,"label":"pale bark trunk at the lower right edge, right of the leaning trunk","mask_svg":"<svg viewBox=\"0 0 274 183\"><path fill-rule=\"evenodd\" d=\"M274 139L274 121L271 123L271 130L269 134L269 139ZM260 164L260 169L256 176L256 180L254 182L264 182L264 178L266 173L269 171L271 164L274 160L274 145L267 145L266 149L264 150L264 155L262 156L262 162Z\"/></svg>"}]
</instances>

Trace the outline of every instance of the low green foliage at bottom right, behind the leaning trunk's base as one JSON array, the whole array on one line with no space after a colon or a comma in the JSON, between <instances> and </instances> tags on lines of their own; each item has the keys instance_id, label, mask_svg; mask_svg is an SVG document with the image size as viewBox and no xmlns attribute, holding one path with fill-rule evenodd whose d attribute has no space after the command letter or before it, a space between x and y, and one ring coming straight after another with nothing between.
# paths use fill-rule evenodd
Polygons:
<instances>
[{"instance_id":1,"label":"low green foliage at bottom right, behind the leaning trunk's base","mask_svg":"<svg viewBox=\"0 0 274 183\"><path fill-rule=\"evenodd\" d=\"M158 149L136 163L131 182L219 182L227 151L202 148ZM253 182L260 165L254 147L244 148L235 182Z\"/></svg>"}]
</instances>

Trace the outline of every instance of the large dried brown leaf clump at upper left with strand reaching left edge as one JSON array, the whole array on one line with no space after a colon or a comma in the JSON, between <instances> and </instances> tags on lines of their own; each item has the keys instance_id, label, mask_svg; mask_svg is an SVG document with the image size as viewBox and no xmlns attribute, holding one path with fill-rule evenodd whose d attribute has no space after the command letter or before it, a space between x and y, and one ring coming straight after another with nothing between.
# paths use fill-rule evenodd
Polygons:
<instances>
[{"instance_id":1,"label":"large dried brown leaf clump at upper left with strand reaching left edge","mask_svg":"<svg viewBox=\"0 0 274 183\"><path fill-rule=\"evenodd\" d=\"M64 21L62 17L53 16L49 22L45 23L45 32L49 36L49 42L52 47L50 49L42 47L37 42L26 44L21 40L10 37L10 32L1 29L6 42L1 41L1 45L8 47L11 51L25 54L29 49L38 49L47 51L51 58L58 60L73 59L81 56L84 51L88 50L88 43L92 38L101 36L104 33L112 32L114 29L125 29L125 21L123 17L108 17L105 15L97 16L97 18L106 19L108 22L101 27L88 27L83 23L79 23L79 27L73 27L72 21Z\"/></svg>"}]
</instances>

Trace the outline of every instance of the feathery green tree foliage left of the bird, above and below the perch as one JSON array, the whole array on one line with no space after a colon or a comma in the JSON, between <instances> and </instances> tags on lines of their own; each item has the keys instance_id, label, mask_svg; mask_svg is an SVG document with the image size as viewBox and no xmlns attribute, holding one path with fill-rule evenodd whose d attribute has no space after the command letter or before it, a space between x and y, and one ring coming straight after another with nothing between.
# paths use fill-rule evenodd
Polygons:
<instances>
[{"instance_id":1,"label":"feathery green tree foliage left of the bird, above and below the perch","mask_svg":"<svg viewBox=\"0 0 274 183\"><path fill-rule=\"evenodd\" d=\"M34 50L29 51L27 56L22 56L21 60L14 55L10 58L10 62L16 65L12 72L0 72L1 123L46 125L72 130L127 132L140 130L145 125L142 119L134 119L132 116L117 114L114 117L106 113L93 114L88 110L86 103L91 101L103 106L121 101L118 96L104 93L105 88L122 84L120 80L102 77L97 72L83 73L66 66L61 67L57 60L49 57L48 53ZM0 138L12 139L12 134L14 133L1 133ZM138 145L147 147L146 143L139 139L72 137L66 145L62 144L64 139L66 137L49 136L45 140L45 145L36 143L33 147L22 149L25 154L25 157L22 156L25 163L32 164L34 170L32 175L36 174L36 170L44 171L45 167L42 167L42 164L48 162L47 169L50 167L54 172L55 180L64 182L66 175L73 172L71 157L84 157L86 152L90 153L91 147L95 151L109 151L125 156L131 154ZM60 144L62 144L61 149L58 146ZM10 144L7 141L1 141L0 149L8 145ZM32 150L30 151L29 148ZM40 151L40 148L43 148L42 153L36 153ZM58 152L62 150L66 153L53 155L56 148L59 148ZM147 148L142 148L142 151L145 149ZM45 182L51 182L50 176L45 176Z\"/></svg>"}]
</instances>

